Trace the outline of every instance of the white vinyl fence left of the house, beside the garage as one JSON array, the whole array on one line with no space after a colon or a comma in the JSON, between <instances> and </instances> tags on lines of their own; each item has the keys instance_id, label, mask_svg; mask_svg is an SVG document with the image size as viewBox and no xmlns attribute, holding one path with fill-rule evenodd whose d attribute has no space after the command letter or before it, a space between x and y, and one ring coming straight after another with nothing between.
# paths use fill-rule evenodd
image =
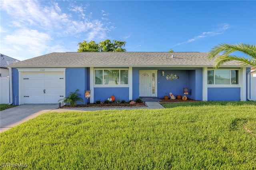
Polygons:
<instances>
[{"instance_id":1,"label":"white vinyl fence left of the house, beside the garage","mask_svg":"<svg viewBox=\"0 0 256 170\"><path fill-rule=\"evenodd\" d=\"M9 103L9 78L0 77L0 103Z\"/></svg>"}]
</instances>

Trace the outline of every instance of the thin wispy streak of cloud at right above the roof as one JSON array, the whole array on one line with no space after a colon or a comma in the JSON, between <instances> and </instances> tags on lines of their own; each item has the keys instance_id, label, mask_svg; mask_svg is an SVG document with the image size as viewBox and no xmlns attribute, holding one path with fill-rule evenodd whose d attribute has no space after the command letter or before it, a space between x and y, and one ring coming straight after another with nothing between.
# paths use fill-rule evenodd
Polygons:
<instances>
[{"instance_id":1,"label":"thin wispy streak of cloud at right above the roof","mask_svg":"<svg viewBox=\"0 0 256 170\"><path fill-rule=\"evenodd\" d=\"M199 36L195 36L194 38L191 38L191 39L187 40L186 42L177 43L176 45L182 45L184 43L194 42L194 41L202 39L202 38L224 34L224 32L230 28L230 25L229 24L220 24L215 27L217 27L217 28L214 29L212 32L202 32L202 34L200 34ZM176 45L174 45L174 46L176 46Z\"/></svg>"}]
</instances>

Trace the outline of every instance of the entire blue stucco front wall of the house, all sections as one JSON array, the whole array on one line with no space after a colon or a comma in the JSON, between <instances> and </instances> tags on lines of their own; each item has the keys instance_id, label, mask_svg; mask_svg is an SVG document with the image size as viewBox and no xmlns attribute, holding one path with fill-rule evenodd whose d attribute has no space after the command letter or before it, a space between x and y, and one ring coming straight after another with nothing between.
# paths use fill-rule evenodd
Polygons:
<instances>
[{"instance_id":1,"label":"entire blue stucco front wall of the house, all sections","mask_svg":"<svg viewBox=\"0 0 256 170\"><path fill-rule=\"evenodd\" d=\"M132 68L132 99L135 100L139 97L139 70L156 70L157 71L157 97L164 97L165 93L172 92L173 95L183 95L183 88L188 87L191 99L202 100L202 68L154 68L154 67L133 67ZM246 69L246 73L250 71ZM162 76L162 71L165 76ZM66 68L66 96L70 92L79 89L84 102L85 90L90 89L90 69L79 68ZM177 80L166 80L166 74L176 74L179 76ZM18 87L18 69L12 68L12 91L13 91L13 105L15 105L15 96L17 96L17 105L19 104L19 87ZM247 76L246 76L247 79ZM246 81L247 83L247 81ZM247 88L247 86L246 86ZM128 87L94 87L94 101L104 101L111 95L115 95L116 99L129 100ZM231 96L231 97L230 97ZM240 88L208 88L208 101L240 101ZM90 98L87 102L90 102Z\"/></svg>"}]
</instances>

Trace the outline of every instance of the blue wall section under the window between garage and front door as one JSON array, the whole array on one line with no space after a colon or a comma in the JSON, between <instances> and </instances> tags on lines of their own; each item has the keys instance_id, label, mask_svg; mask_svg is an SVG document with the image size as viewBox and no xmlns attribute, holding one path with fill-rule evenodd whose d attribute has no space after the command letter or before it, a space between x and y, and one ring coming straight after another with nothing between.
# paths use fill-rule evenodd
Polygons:
<instances>
[{"instance_id":1,"label":"blue wall section under the window between garage and front door","mask_svg":"<svg viewBox=\"0 0 256 170\"><path fill-rule=\"evenodd\" d=\"M129 101L129 88L128 87L95 87L94 88L94 102L105 101L111 95L115 96L115 100Z\"/></svg>"}]
</instances>

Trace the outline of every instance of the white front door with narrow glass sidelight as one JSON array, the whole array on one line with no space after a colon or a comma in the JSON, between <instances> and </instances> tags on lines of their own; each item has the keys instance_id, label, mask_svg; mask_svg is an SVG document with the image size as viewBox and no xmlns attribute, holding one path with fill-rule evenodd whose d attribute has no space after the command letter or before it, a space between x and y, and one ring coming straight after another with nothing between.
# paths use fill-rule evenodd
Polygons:
<instances>
[{"instance_id":1,"label":"white front door with narrow glass sidelight","mask_svg":"<svg viewBox=\"0 0 256 170\"><path fill-rule=\"evenodd\" d=\"M156 70L140 70L140 97L156 97Z\"/></svg>"}]
</instances>

